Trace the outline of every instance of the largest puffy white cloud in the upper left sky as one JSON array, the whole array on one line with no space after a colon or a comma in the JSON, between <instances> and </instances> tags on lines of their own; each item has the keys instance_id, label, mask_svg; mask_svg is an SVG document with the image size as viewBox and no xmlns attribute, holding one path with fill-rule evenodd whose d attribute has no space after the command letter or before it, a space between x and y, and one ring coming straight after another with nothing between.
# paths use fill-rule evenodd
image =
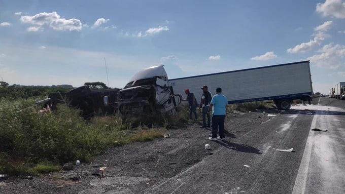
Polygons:
<instances>
[{"instance_id":1,"label":"largest puffy white cloud in the upper left sky","mask_svg":"<svg viewBox=\"0 0 345 194\"><path fill-rule=\"evenodd\" d=\"M48 26L54 30L78 31L82 29L82 23L80 20L75 18L68 20L61 18L56 12L43 12L34 16L21 16L20 21L22 23L32 25L27 28L27 31L43 30L45 26Z\"/></svg>"}]
</instances>

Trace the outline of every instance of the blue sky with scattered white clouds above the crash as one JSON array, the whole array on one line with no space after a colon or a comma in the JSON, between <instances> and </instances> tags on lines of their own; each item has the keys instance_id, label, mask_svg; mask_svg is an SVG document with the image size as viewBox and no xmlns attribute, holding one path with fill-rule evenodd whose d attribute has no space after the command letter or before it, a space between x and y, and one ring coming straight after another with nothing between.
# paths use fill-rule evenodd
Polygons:
<instances>
[{"instance_id":1,"label":"blue sky with scattered white clouds above the crash","mask_svg":"<svg viewBox=\"0 0 345 194\"><path fill-rule=\"evenodd\" d=\"M345 81L345 1L4 1L0 76L10 84L122 88L164 64L169 78L310 60L314 91Z\"/></svg>"}]
</instances>

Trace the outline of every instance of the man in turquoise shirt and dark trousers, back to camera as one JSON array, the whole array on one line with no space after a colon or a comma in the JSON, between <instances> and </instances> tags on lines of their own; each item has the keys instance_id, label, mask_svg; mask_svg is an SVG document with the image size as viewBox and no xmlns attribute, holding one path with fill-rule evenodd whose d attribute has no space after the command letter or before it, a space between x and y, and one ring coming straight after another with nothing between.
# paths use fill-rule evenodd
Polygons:
<instances>
[{"instance_id":1,"label":"man in turquoise shirt and dark trousers, back to camera","mask_svg":"<svg viewBox=\"0 0 345 194\"><path fill-rule=\"evenodd\" d=\"M226 96L222 94L222 89L217 88L216 95L213 96L209 107L209 111L212 109L212 137L209 137L209 140L224 140L224 120L227 104L228 100ZM217 132L219 137L217 137Z\"/></svg>"}]
</instances>

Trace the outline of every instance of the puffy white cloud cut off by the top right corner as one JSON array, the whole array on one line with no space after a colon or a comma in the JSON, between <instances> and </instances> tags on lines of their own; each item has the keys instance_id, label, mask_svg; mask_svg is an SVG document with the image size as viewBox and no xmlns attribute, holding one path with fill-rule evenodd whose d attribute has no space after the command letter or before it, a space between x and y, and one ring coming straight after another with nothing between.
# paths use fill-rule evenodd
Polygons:
<instances>
[{"instance_id":1,"label":"puffy white cloud cut off by the top right corner","mask_svg":"<svg viewBox=\"0 0 345 194\"><path fill-rule=\"evenodd\" d=\"M345 2L342 0L326 0L325 3L316 5L316 11L323 16L345 19Z\"/></svg>"}]
</instances>

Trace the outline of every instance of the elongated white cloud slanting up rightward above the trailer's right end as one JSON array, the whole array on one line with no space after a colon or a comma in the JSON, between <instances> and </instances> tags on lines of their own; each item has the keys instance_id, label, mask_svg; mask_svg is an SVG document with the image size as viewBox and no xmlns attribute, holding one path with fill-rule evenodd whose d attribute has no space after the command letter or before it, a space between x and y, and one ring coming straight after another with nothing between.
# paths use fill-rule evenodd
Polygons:
<instances>
[{"instance_id":1,"label":"elongated white cloud slanting up rightward above the trailer's right end","mask_svg":"<svg viewBox=\"0 0 345 194\"><path fill-rule=\"evenodd\" d=\"M319 31L313 35L313 40L296 45L294 48L290 48L287 51L289 53L304 53L306 51L312 50L316 46L321 45L321 42L324 41L327 37L329 37L328 34L323 33L322 31Z\"/></svg>"}]
</instances>

